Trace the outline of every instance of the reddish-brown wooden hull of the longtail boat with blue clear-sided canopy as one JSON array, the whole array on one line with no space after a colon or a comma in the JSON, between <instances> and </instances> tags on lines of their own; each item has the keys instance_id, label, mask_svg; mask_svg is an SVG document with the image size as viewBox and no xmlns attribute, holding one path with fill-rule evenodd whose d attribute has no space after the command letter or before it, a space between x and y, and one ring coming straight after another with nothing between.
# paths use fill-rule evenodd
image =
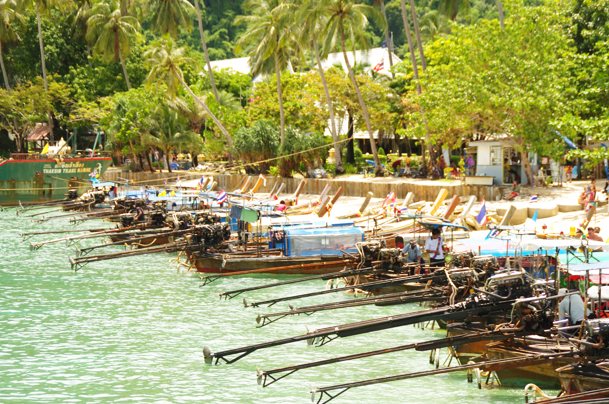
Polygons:
<instances>
[{"instance_id":1,"label":"reddish-brown wooden hull of the longtail boat with blue clear-sided canopy","mask_svg":"<svg viewBox=\"0 0 609 404\"><path fill-rule=\"evenodd\" d=\"M280 257L267 256L264 252L259 257L245 256L220 256L220 254L205 254L205 252L194 252L190 256L194 260L197 272L202 273L230 273L249 270L269 270L275 274L307 274L322 275L340 271L345 268L343 256L316 256L316 257ZM336 262L336 265L332 265ZM319 263L319 267L309 265L307 268L298 268L303 264ZM272 271L273 268L291 266L285 270ZM296 266L296 268L294 268Z\"/></svg>"}]
</instances>

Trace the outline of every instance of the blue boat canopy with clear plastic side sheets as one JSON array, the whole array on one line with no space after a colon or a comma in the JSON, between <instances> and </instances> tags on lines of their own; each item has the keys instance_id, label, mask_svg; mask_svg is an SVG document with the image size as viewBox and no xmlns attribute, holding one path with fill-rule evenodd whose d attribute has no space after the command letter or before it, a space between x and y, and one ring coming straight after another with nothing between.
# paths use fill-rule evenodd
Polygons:
<instances>
[{"instance_id":1,"label":"blue boat canopy with clear plastic side sheets","mask_svg":"<svg viewBox=\"0 0 609 404\"><path fill-rule=\"evenodd\" d=\"M364 241L364 229L357 226L285 228L286 256L341 256L356 254L356 243Z\"/></svg>"}]
</instances>

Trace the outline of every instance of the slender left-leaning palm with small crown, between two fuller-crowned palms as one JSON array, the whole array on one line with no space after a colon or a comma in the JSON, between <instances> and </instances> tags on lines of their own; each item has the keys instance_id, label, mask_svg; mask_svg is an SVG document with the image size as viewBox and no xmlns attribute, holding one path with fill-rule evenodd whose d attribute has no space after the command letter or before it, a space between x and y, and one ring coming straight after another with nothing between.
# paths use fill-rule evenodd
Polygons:
<instances>
[{"instance_id":1,"label":"slender left-leaning palm with small crown, between two fuller-crowned palms","mask_svg":"<svg viewBox=\"0 0 609 404\"><path fill-rule=\"evenodd\" d=\"M342 163L342 147L340 144L339 135L336 131L334 108L332 106L332 100L328 91L328 82L326 82L326 76L322 68L322 60L319 55L319 46L317 46L317 33L319 33L323 28L322 22L324 21L324 16L320 14L319 10L315 12L315 10L308 8L308 4L305 4L304 7L301 7L295 20L297 21L297 24L302 27L301 33L303 42L309 42L313 47L315 61L317 62L317 70L319 71L319 76L322 80L323 92L326 96L326 105L328 105L328 114L330 116L332 140L334 141L334 156L336 156L335 173L339 175L344 174L345 167L343 167Z\"/></svg>"}]
</instances>

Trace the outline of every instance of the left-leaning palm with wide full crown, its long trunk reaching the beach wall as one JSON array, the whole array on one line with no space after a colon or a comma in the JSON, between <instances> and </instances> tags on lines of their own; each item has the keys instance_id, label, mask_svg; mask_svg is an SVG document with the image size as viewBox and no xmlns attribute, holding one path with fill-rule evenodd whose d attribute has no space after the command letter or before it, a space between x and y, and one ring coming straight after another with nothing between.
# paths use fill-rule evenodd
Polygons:
<instances>
[{"instance_id":1,"label":"left-leaning palm with wide full crown, its long trunk reaching the beach wall","mask_svg":"<svg viewBox=\"0 0 609 404\"><path fill-rule=\"evenodd\" d=\"M383 168L381 161L379 160L378 151L376 150L375 138L372 133L372 127L370 126L370 116L368 115L368 108L364 99L362 98L362 92L357 85L353 68L347 58L347 46L345 40L349 39L353 46L358 45L363 49L369 49L370 43L365 36L365 27L368 25L368 18L372 18L381 29L384 29L387 21L381 13L378 12L374 7L364 4L356 4L351 0L331 0L323 5L318 2L310 2L310 7L322 7L328 15L328 23L323 30L323 37L325 37L324 52L329 52L331 49L335 49L337 42L340 42L340 49L342 49L343 58L345 58L345 65L351 83L357 94L357 100L359 106L362 109L362 115L366 122L366 128L368 130L368 136L370 136L370 148L375 159L375 175L382 176Z\"/></svg>"}]
</instances>

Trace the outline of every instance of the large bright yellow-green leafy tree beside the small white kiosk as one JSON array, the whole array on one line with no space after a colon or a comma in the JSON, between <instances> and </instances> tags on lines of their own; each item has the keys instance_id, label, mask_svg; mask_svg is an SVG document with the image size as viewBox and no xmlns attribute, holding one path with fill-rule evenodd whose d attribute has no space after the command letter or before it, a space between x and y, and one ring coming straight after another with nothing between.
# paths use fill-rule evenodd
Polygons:
<instances>
[{"instance_id":1,"label":"large bright yellow-green leafy tree beside the small white kiosk","mask_svg":"<svg viewBox=\"0 0 609 404\"><path fill-rule=\"evenodd\" d=\"M576 57L565 32L566 4L510 10L504 30L496 20L480 20L429 44L434 64L418 97L427 122L414 116L410 130L429 127L432 140L446 145L472 133L501 139L521 153L532 182L529 151L549 154L554 129L569 134L579 125Z\"/></svg>"}]
</instances>

